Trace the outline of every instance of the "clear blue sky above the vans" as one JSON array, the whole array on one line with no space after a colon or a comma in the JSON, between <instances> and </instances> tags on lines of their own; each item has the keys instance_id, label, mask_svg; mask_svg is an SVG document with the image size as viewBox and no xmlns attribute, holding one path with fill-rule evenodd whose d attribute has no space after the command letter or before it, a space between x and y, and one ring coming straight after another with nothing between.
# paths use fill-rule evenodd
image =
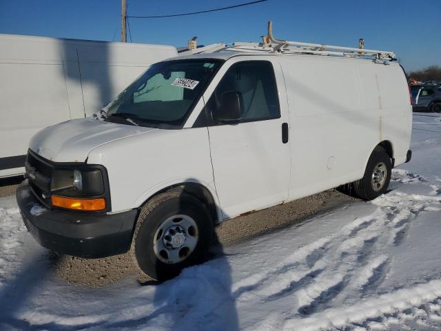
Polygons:
<instances>
[{"instance_id":1,"label":"clear blue sky above the vans","mask_svg":"<svg viewBox=\"0 0 441 331\"><path fill-rule=\"evenodd\" d=\"M127 0L130 15L161 15L250 0ZM167 19L130 19L136 43L185 46L260 41L267 21L280 39L393 50L407 70L441 65L441 0L269 0L252 6ZM121 40L121 1L0 1L0 33ZM128 37L127 37L128 38Z\"/></svg>"}]
</instances>

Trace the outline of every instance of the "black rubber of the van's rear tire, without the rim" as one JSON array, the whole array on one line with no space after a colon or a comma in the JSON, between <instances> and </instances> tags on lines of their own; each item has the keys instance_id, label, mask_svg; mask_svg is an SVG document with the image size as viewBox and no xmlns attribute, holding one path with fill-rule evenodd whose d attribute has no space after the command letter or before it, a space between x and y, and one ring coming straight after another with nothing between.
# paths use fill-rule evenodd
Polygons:
<instances>
[{"instance_id":1,"label":"black rubber of the van's rear tire, without the rim","mask_svg":"<svg viewBox=\"0 0 441 331\"><path fill-rule=\"evenodd\" d=\"M385 175L384 183L380 187L374 188L372 183L373 172L376 170L378 165L385 165ZM376 148L373 150L369 161L367 161L367 166L365 170L365 175L362 179L353 182L353 190L355 191L357 197L363 200L373 200L384 194L387 191L387 187L391 181L392 163L391 158L382 148Z\"/></svg>"}]
</instances>

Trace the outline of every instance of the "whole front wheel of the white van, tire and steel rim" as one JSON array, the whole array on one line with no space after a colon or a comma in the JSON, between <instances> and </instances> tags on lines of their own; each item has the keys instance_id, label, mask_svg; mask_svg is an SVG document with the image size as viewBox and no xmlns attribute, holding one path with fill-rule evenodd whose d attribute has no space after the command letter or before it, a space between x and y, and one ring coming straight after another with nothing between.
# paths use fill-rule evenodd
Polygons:
<instances>
[{"instance_id":1,"label":"whole front wheel of the white van, tire and steel rim","mask_svg":"<svg viewBox=\"0 0 441 331\"><path fill-rule=\"evenodd\" d=\"M207 208L195 197L176 191L158 194L141 208L130 253L148 277L171 279L205 261L212 224Z\"/></svg>"}]
</instances>

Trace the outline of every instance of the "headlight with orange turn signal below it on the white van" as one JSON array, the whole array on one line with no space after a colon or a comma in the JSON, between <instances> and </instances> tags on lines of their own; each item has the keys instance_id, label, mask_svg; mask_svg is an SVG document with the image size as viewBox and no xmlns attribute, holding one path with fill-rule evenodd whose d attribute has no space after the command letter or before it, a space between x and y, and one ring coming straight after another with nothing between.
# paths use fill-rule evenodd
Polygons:
<instances>
[{"instance_id":1,"label":"headlight with orange turn signal below it on the white van","mask_svg":"<svg viewBox=\"0 0 441 331\"><path fill-rule=\"evenodd\" d=\"M52 172L54 207L73 210L105 210L105 178L98 168L56 169Z\"/></svg>"}]
</instances>

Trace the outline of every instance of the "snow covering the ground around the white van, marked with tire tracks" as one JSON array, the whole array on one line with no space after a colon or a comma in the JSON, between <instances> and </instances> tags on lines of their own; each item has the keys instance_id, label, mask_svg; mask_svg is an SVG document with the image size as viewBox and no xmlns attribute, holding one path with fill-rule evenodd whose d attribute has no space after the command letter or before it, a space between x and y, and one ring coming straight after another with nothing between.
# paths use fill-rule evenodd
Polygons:
<instances>
[{"instance_id":1,"label":"snow covering the ground around the white van, marked with tire tracks","mask_svg":"<svg viewBox=\"0 0 441 331\"><path fill-rule=\"evenodd\" d=\"M0 199L0 330L440 330L441 118L413 119L413 159L384 196L229 245L161 285L64 283Z\"/></svg>"}]
</instances>

